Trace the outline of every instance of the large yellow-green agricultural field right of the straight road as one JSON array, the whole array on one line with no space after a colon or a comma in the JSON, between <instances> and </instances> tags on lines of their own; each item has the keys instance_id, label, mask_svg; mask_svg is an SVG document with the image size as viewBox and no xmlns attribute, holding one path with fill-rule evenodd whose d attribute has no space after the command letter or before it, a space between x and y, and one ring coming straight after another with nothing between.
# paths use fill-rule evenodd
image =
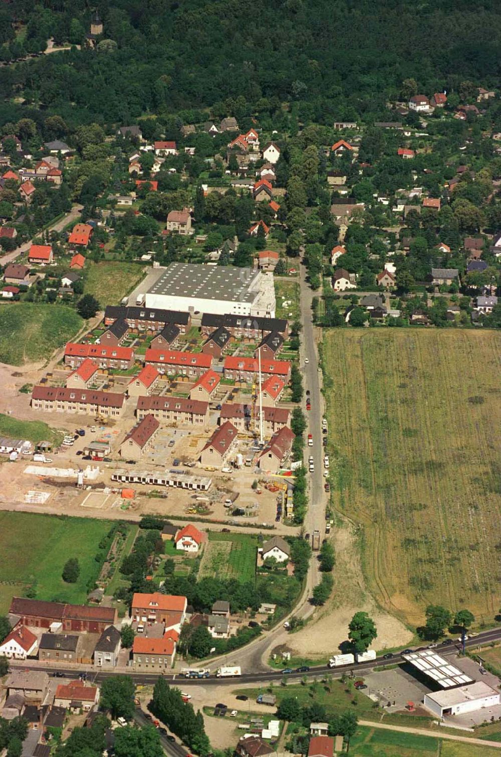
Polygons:
<instances>
[{"instance_id":1,"label":"large yellow-green agricultural field right of the straight road","mask_svg":"<svg viewBox=\"0 0 501 757\"><path fill-rule=\"evenodd\" d=\"M501 334L336 329L323 360L332 501L376 600L491 619L501 602Z\"/></svg>"}]
</instances>

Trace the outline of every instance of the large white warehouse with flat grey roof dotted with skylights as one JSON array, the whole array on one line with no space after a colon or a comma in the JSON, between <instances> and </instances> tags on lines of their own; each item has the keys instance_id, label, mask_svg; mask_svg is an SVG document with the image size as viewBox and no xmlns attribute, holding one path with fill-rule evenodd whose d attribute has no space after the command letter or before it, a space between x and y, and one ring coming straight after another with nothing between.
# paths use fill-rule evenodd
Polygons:
<instances>
[{"instance_id":1,"label":"large white warehouse with flat grey roof dotted with skylights","mask_svg":"<svg viewBox=\"0 0 501 757\"><path fill-rule=\"evenodd\" d=\"M147 291L146 307L274 318L273 274L233 266L171 263Z\"/></svg>"}]
</instances>

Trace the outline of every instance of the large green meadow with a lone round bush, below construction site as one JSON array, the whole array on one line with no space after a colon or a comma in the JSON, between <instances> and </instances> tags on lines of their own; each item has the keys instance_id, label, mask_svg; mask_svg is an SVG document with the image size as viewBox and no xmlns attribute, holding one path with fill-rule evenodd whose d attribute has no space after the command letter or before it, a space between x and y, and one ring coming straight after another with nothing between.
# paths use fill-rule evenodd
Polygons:
<instances>
[{"instance_id":1,"label":"large green meadow with a lone round bush, below construction site","mask_svg":"<svg viewBox=\"0 0 501 757\"><path fill-rule=\"evenodd\" d=\"M0 614L8 612L11 597L30 584L35 586L39 600L57 597L84 603L88 582L100 572L94 559L98 544L111 525L110 521L91 518L0 512ZM70 557L79 559L76 584L65 584L61 578Z\"/></svg>"}]
</instances>

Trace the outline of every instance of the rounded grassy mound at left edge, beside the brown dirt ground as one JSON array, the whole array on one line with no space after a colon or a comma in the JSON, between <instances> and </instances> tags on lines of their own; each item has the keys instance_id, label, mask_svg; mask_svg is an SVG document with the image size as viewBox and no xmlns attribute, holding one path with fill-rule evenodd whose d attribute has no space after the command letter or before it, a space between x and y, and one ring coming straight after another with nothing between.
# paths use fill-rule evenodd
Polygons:
<instances>
[{"instance_id":1,"label":"rounded grassy mound at left edge, beside the brown dirt ground","mask_svg":"<svg viewBox=\"0 0 501 757\"><path fill-rule=\"evenodd\" d=\"M79 314L65 305L22 302L0 307L0 362L21 366L48 360L82 324Z\"/></svg>"}]
</instances>

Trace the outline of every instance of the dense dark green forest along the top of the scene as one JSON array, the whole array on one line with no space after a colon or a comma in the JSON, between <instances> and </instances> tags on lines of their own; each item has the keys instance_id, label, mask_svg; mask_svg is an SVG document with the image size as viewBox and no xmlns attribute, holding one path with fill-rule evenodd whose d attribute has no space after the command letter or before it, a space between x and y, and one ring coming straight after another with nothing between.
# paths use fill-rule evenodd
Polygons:
<instances>
[{"instance_id":1,"label":"dense dark green forest along the top of the scene","mask_svg":"<svg viewBox=\"0 0 501 757\"><path fill-rule=\"evenodd\" d=\"M299 120L383 117L412 76L425 92L464 79L492 86L501 71L496 0L102 0L104 24L86 44L83 0L14 0L0 11L0 61L81 45L0 67L0 123L42 105L69 123L127 123L141 114L211 107L215 117ZM294 105L295 103L295 105Z\"/></svg>"}]
</instances>

